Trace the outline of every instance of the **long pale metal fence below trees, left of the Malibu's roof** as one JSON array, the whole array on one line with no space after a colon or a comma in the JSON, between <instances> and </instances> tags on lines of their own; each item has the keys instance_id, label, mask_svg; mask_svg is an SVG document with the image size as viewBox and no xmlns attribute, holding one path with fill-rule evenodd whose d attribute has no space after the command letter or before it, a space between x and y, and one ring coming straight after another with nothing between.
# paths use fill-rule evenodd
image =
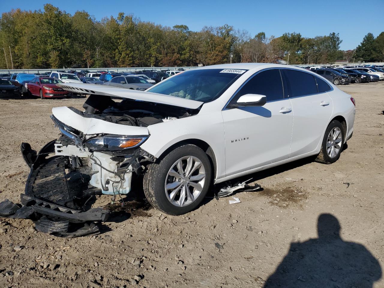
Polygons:
<instances>
[{"instance_id":1,"label":"long pale metal fence below trees, left of the Malibu's roof","mask_svg":"<svg viewBox=\"0 0 384 288\"><path fill-rule=\"evenodd\" d=\"M96 71L114 71L114 72L133 72L133 71L142 71L142 70L159 70L159 71L166 71L166 70L177 70L179 68L183 68L184 70L189 70L193 68L197 68L195 66L184 66L184 67L126 67L126 68L63 68L63 69L0 69L0 74L12 74L12 73L45 73L45 72L52 72L52 71L58 71L58 70L64 70L64 71L80 71L80 70L88 70L90 72L96 72Z\"/></svg>"}]
</instances>

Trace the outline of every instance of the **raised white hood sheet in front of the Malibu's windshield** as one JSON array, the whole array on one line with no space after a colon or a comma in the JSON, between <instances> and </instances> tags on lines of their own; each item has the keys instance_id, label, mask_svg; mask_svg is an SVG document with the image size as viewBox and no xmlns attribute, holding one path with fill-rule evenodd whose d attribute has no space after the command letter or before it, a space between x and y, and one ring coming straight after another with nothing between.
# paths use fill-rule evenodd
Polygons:
<instances>
[{"instance_id":1,"label":"raised white hood sheet in front of the Malibu's windshield","mask_svg":"<svg viewBox=\"0 0 384 288\"><path fill-rule=\"evenodd\" d=\"M61 88L75 92L75 93L89 93L121 98L129 98L134 100L152 102L152 103L161 103L172 106L178 106L189 109L199 108L203 102L195 101L190 99L184 99L175 96L151 93L146 91L136 91L131 89L118 88L113 86L104 86L96 84L77 84L77 83L68 83L68 84L57 84Z\"/></svg>"}]
</instances>

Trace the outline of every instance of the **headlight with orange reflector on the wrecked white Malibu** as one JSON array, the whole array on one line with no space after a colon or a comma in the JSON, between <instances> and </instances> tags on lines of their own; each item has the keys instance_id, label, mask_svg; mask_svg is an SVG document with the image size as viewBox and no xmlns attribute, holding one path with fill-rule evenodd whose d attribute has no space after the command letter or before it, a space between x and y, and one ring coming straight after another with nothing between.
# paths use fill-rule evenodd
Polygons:
<instances>
[{"instance_id":1,"label":"headlight with orange reflector on the wrecked white Malibu","mask_svg":"<svg viewBox=\"0 0 384 288\"><path fill-rule=\"evenodd\" d=\"M93 151L122 151L139 146L147 140L147 136L129 137L121 135L96 136L84 142Z\"/></svg>"}]
</instances>

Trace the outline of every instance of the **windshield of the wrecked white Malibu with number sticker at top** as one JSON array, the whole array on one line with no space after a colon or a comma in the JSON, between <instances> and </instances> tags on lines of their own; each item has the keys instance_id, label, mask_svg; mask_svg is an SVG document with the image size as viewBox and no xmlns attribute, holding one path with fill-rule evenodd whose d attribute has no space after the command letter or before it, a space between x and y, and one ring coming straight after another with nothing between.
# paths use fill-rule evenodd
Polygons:
<instances>
[{"instance_id":1,"label":"windshield of the wrecked white Malibu with number sticker at top","mask_svg":"<svg viewBox=\"0 0 384 288\"><path fill-rule=\"evenodd\" d=\"M160 82L147 91L207 103L218 98L245 71L247 70L189 70Z\"/></svg>"}]
</instances>

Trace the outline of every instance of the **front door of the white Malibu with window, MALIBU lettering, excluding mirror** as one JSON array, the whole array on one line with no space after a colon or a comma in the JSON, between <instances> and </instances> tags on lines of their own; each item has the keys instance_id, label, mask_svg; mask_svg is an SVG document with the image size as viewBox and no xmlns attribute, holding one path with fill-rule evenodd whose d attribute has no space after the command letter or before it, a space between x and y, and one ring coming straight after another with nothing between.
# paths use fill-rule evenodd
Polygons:
<instances>
[{"instance_id":1,"label":"front door of the white Malibu with window, MALIBU lettering, excluding mirror","mask_svg":"<svg viewBox=\"0 0 384 288\"><path fill-rule=\"evenodd\" d=\"M230 104L245 94L267 98L262 107L224 108L226 176L288 159L293 111L284 98L279 69L263 70L252 76Z\"/></svg>"}]
</instances>

